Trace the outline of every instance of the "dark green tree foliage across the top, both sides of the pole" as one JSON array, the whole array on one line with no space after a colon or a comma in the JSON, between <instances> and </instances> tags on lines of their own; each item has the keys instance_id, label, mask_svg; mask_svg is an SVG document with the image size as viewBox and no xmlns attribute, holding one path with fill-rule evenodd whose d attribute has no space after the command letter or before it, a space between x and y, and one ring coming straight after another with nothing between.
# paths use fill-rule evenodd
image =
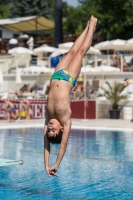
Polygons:
<instances>
[{"instance_id":1,"label":"dark green tree foliage across the top, both sides of the pole","mask_svg":"<svg viewBox=\"0 0 133 200\"><path fill-rule=\"evenodd\" d=\"M54 21L56 0L0 0L0 18L39 15ZM133 0L78 0L74 8L63 2L63 32L79 35L91 15L98 18L97 33L107 39L129 39L133 35Z\"/></svg>"}]
</instances>

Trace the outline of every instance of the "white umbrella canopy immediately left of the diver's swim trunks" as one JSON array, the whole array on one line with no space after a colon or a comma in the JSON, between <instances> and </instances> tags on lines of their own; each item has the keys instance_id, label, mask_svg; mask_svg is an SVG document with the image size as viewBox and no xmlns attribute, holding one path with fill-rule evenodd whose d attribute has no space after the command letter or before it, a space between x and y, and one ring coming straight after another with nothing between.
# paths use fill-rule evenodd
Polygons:
<instances>
[{"instance_id":1,"label":"white umbrella canopy immediately left of the diver's swim trunks","mask_svg":"<svg viewBox=\"0 0 133 200\"><path fill-rule=\"evenodd\" d=\"M47 67L44 67L44 66L30 66L30 67L26 67L24 68L22 71L21 71L21 74L25 74L25 73L37 73L37 74L40 74L40 73L53 73L53 70L54 69L50 69L50 68L47 68Z\"/></svg>"}]
</instances>

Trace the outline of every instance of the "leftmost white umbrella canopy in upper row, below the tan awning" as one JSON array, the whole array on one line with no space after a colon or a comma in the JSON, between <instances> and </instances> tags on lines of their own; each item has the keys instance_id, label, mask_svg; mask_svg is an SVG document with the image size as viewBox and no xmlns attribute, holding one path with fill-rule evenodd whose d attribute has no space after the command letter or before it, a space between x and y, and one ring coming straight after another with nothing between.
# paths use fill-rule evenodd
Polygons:
<instances>
[{"instance_id":1,"label":"leftmost white umbrella canopy in upper row, below the tan awning","mask_svg":"<svg viewBox=\"0 0 133 200\"><path fill-rule=\"evenodd\" d=\"M9 54L34 54L34 52L28 48L24 47L15 47L13 49L8 50Z\"/></svg>"}]
</instances>

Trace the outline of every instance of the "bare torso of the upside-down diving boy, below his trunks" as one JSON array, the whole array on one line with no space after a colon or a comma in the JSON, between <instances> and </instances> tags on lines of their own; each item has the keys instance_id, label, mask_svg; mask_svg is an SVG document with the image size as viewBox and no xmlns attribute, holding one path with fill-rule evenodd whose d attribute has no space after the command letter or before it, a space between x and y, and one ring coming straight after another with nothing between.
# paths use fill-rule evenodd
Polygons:
<instances>
[{"instance_id":1,"label":"bare torso of the upside-down diving boy, below his trunks","mask_svg":"<svg viewBox=\"0 0 133 200\"><path fill-rule=\"evenodd\" d=\"M57 119L61 125L71 117L70 92L72 84L64 80L52 80L47 99L49 118Z\"/></svg>"}]
</instances>

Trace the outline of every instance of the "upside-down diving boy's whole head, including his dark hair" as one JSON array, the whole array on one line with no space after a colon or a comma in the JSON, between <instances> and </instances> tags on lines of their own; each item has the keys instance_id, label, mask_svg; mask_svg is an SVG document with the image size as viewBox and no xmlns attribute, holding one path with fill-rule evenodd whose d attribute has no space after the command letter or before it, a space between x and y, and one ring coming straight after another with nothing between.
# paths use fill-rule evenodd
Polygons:
<instances>
[{"instance_id":1,"label":"upside-down diving boy's whole head, including his dark hair","mask_svg":"<svg viewBox=\"0 0 133 200\"><path fill-rule=\"evenodd\" d=\"M46 136L51 143L60 144L63 134L63 126L57 119L51 119L48 122Z\"/></svg>"}]
</instances>

